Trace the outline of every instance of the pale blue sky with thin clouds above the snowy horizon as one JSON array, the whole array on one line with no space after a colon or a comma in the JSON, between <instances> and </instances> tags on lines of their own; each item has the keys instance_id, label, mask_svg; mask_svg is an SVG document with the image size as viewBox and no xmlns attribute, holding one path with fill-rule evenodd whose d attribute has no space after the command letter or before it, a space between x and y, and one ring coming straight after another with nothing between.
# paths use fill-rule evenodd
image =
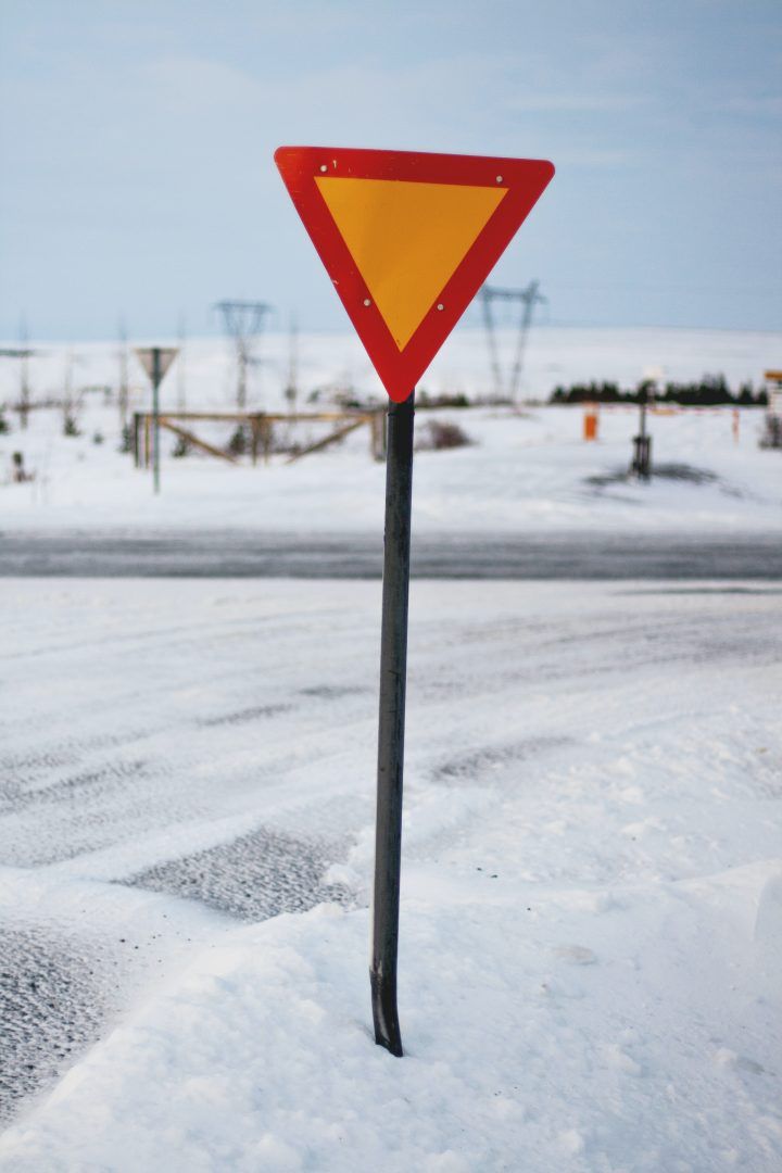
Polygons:
<instances>
[{"instance_id":1,"label":"pale blue sky with thin clouds above the snowy horizon","mask_svg":"<svg viewBox=\"0 0 782 1173\"><path fill-rule=\"evenodd\" d=\"M281 143L551 158L495 280L557 324L782 325L780 0L4 0L0 335L347 318Z\"/></svg>"}]
</instances>

